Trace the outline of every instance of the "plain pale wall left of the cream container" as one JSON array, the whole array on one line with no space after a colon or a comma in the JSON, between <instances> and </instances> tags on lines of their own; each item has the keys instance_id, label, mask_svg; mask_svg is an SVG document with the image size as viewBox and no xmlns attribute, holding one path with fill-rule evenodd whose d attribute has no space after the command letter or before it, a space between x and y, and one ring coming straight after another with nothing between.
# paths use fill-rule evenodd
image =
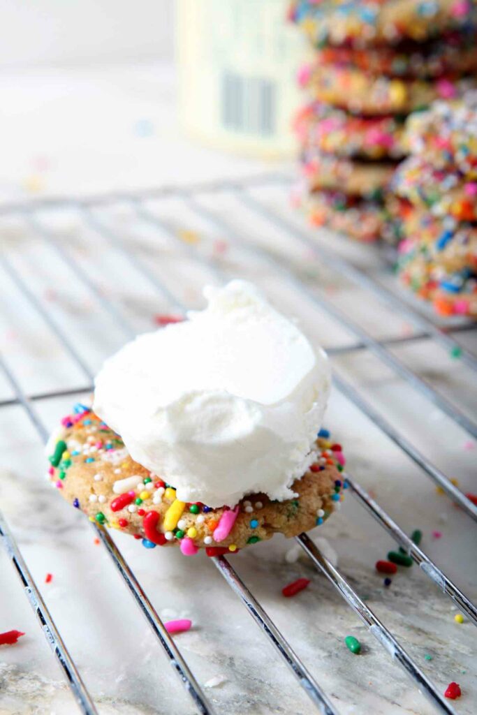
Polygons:
<instances>
[{"instance_id":1,"label":"plain pale wall left of the cream container","mask_svg":"<svg viewBox=\"0 0 477 715\"><path fill-rule=\"evenodd\" d=\"M0 0L0 66L171 57L173 4L174 0Z\"/></svg>"}]
</instances>

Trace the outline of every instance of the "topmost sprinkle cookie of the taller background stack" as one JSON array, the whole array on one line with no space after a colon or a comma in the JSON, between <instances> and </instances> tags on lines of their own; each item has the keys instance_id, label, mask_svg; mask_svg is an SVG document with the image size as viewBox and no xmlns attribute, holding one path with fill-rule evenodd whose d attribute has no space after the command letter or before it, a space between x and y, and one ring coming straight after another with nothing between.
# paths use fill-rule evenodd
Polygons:
<instances>
[{"instance_id":1,"label":"topmost sprinkle cookie of the taller background stack","mask_svg":"<svg viewBox=\"0 0 477 715\"><path fill-rule=\"evenodd\" d=\"M298 0L292 19L315 46L423 42L476 25L475 0Z\"/></svg>"}]
</instances>

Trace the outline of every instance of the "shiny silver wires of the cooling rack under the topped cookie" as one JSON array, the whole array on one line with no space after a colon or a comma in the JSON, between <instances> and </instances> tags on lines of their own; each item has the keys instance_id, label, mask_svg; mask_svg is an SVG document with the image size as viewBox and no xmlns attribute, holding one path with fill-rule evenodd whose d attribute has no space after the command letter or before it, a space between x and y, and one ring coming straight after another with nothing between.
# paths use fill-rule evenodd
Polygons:
<instances>
[{"instance_id":1,"label":"shiny silver wires of the cooling rack under the topped cookie","mask_svg":"<svg viewBox=\"0 0 477 715\"><path fill-rule=\"evenodd\" d=\"M45 207L55 208L55 207L74 207L79 211L81 215L82 222L84 225L88 226L92 230L98 232L104 237L108 242L110 242L114 249L121 252L130 265L133 265L135 270L139 272L144 280L147 280L150 285L159 292L162 299L167 302L171 310L183 312L186 310L187 306L183 305L180 300L169 290L167 285L159 280L157 275L149 269L146 262L144 262L138 255L136 255L130 249L127 243L123 242L122 239L117 235L116 232L111 230L107 225L104 225L94 213L94 207L99 205L114 205L119 202L128 202L129 206L134 210L134 215L137 220L142 222L147 222L152 227L160 229L165 232L169 237L174 238L174 240L179 240L177 235L167 222L161 220L155 213L152 213L147 208L147 200L160 196L174 196L179 198L182 202L187 205L189 209L192 210L201 220L205 221L207 225L213 227L216 232L221 235L227 236L232 245L235 245L237 249L244 251L252 259L252 261L262 262L272 269L275 275L279 275L283 281L287 282L292 286L293 290L296 290L307 300L311 306L318 307L320 311L323 311L333 317L333 320L338 322L339 325L344 327L351 335L353 335L357 342L353 342L349 347L339 347L335 350L330 350L331 353L335 352L337 354L343 352L352 352L353 350L369 350L373 355L375 355L378 360L383 364L387 365L391 370L395 371L400 378L406 380L413 389L417 390L423 397L425 397L430 403L436 405L443 413L448 415L448 417L453 420L454 423L460 425L463 430L466 430L469 434L477 436L477 425L468 418L461 410L456 408L456 405L449 402L443 397L437 390L435 390L429 383L427 383L423 378L415 375L410 368L407 367L401 360L395 357L395 355L390 352L390 347L396 344L405 344L412 340L419 339L421 337L428 337L428 339L433 340L436 344L442 347L448 348L458 348L461 351L463 362L471 370L477 370L477 358L473 353L466 350L458 340L456 340L455 334L451 335L448 332L443 332L440 327L435 325L428 317L421 315L410 307L407 303L400 300L400 297L396 296L388 289L384 288L382 285L378 284L373 280L373 277L367 275L365 272L361 271L355 265L353 265L348 260L345 260L338 255L335 255L332 251L325 249L318 242L315 243L309 237L309 235L300 230L299 228L287 222L285 218L280 217L268 208L265 203L260 202L256 197L252 197L249 189L252 185L262 185L262 184L273 184L274 182L282 182L281 177L260 177L260 179L254 179L252 182L225 182L219 185L208 185L208 186L197 186L189 187L187 189L159 189L157 192L142 192L140 194L112 194L104 197L91 197L89 199L59 199L57 201L50 200L48 202L29 202L27 204L16 204L14 206L3 207L1 209L2 215L20 215L26 222L28 222L30 229L34 232L39 240L45 242L49 245L51 250L54 250L56 255L59 257L64 265L67 265L69 269L73 272L76 279L81 282L87 289L89 294L91 294L95 300L102 306L105 312L109 315L112 322L114 322L117 327L122 331L125 338L132 337L135 334L134 327L131 325L129 320L127 320L122 312L118 309L114 302L109 300L104 293L99 290L94 280L89 277L86 270L82 268L79 262L76 262L69 253L64 250L64 247L56 240L54 234L49 230L46 225L41 221L39 213L41 209ZM343 312L338 310L333 302L324 294L313 291L311 292L308 287L306 287L303 282L297 278L297 276L292 272L292 270L287 267L283 267L282 263L277 261L275 257L269 255L265 250L258 247L254 243L247 240L245 235L242 235L240 230L237 230L231 223L225 222L220 219L212 212L207 209L203 203L197 200L198 194L200 192L207 191L208 193L218 194L219 192L230 192L235 196L238 202L243 205L250 212L255 212L256 215L260 215L263 219L273 223L280 231L287 233L288 236L292 237L293 240L301 242L303 245L310 247L313 252L320 257L320 260L324 262L327 267L331 270L339 272L341 275L347 277L351 282L358 285L361 289L370 292L378 300L382 301L385 305L393 307L393 310L400 312L400 315L406 317L410 322L413 323L418 332L408 337L390 338L388 340L375 340L371 337L368 332L363 330L358 323L354 322L348 315L344 315ZM187 254L192 261L201 263L207 270L215 275L215 278L219 281L227 280L226 272L217 265L215 262L211 261L208 257L205 257L196 250L193 245L185 245L182 243L182 248L187 250ZM66 390L57 390L48 393L36 393L31 395L26 395L19 380L16 378L14 369L11 365L7 365L4 360L0 361L0 371L4 374L7 382L11 386L11 390L14 396L0 401L0 407L6 407L9 405L21 405L28 415L31 423L36 428L36 432L41 440L46 440L47 430L42 422L39 412L36 409L36 402L39 400L44 400L51 397L59 397L66 395L74 395L84 392L85 390L90 390L92 388L92 373L89 370L87 364L79 355L76 347L74 346L72 340L69 339L67 333L62 330L62 327L54 320L50 312L46 310L44 305L42 305L41 300L32 292L29 285L23 280L20 273L16 270L13 263L9 261L6 253L4 252L0 255L0 265L3 270L9 275L11 280L14 282L18 290L22 295L28 300L31 307L36 310L36 315L39 320L44 322L44 325L48 327L51 333L56 337L57 340L62 344L64 350L71 358L72 363L79 368L84 375L85 384L82 388L71 388ZM467 330L469 326L463 326L464 330ZM454 485L450 478L443 473L442 470L438 469L433 465L428 458L426 458L420 451L411 443L403 434L400 433L393 425L391 425L388 420L386 420L383 415L378 413L360 393L353 388L342 376L335 374L335 386L338 390L345 395L352 403L354 403L365 415L368 416L373 422L378 426L378 428L385 433L393 442L398 445L405 454L410 457L415 464L417 464L426 474L428 474L443 490L446 491L448 496L453 499L465 513L477 520L477 507L470 501L466 495L464 495L461 490L459 490L456 485ZM365 506L365 508L370 512L373 518L378 521L380 526L387 531L387 533L392 536L392 538L399 544L413 561L420 566L423 573L431 578L438 588L446 593L446 595L451 598L458 608L464 611L468 618L477 624L477 608L471 603L471 601L466 597L464 593L456 586L453 581L451 581L448 576L446 576L443 571L433 563L426 553L424 553L421 548L416 546L408 536L405 535L403 530L393 521L393 519L385 513L383 508L381 508L378 503L376 503L373 498L365 491L365 489L356 482L352 475L347 474L346 478L348 480L348 485L350 487L350 492L355 496L355 498ZM154 610L152 603L149 601L147 594L144 593L142 586L137 581L134 576L132 569L129 567L124 557L119 552L116 544L112 540L109 533L104 530L104 528L99 526L93 527L97 532L97 536L101 540L103 546L106 548L109 556L112 558L114 565L117 567L124 583L131 591L134 600L139 605L143 615L147 619L149 626L152 628L154 635L156 636L159 644L169 659L169 664L172 665L174 671L180 677L182 684L187 689L190 694L192 701L194 702L197 711L200 713L212 713L212 706L207 701L205 694L203 693L200 685L197 683L195 676L187 666L185 659L183 659L180 654L179 649L177 649L169 633L167 633L164 624L162 623L159 615ZM16 572L21 578L26 595L29 597L31 606L34 608L36 615L41 622L41 626L44 629L47 640L51 644L52 649L56 659L59 661L64 674L67 676L67 681L71 687L79 705L79 708L87 714L94 714L97 712L94 702L91 696L89 696L86 686L84 685L81 676L74 664L69 652L67 651L67 646L62 641L59 632L54 625L54 622L47 610L44 601L41 599L41 594L39 589L36 587L31 574L29 573L28 567L21 556L19 548L16 546L14 537L6 524L3 517L0 516L0 536L4 541L7 553L11 563L13 563ZM333 566L332 563L325 558L322 553L315 546L313 541L308 538L306 534L297 537L298 543L303 548L305 553L308 554L313 564L322 571L325 576L333 583L333 586L338 590L341 596L347 601L348 605L353 608L353 610L358 614L366 626L368 626L370 633L377 639L385 651L390 654L390 656L395 659L395 661L403 667L405 672L413 679L414 683L418 686L423 694L425 694L431 703L436 707L436 709L442 713L451 714L453 713L453 708L446 701L441 694L439 694L436 686L434 686L431 681L423 674L418 665L413 661L410 656L406 653L403 646L395 639L392 633L385 627L385 625L375 616L373 611L361 600L355 590L350 586L350 583L346 581L343 575ZM292 650L290 644L287 643L285 637L280 633L275 624L271 621L270 617L267 615L265 610L262 608L260 603L257 601L255 596L253 596L252 591L248 588L242 581L240 576L237 574L234 568L230 565L227 559L223 556L215 557L212 559L215 566L217 566L218 571L225 578L225 581L230 585L230 587L235 591L237 596L240 598L242 603L247 608L252 618L255 620L257 625L260 627L262 632L270 639L273 646L277 650L277 653L285 661L285 664L291 669L292 673L295 675L297 681L303 687L305 692L310 696L318 710L326 715L336 715L337 710L335 706L331 703L327 694L323 688L318 684L313 676L308 672L303 663L300 661L298 656Z\"/></svg>"}]
</instances>

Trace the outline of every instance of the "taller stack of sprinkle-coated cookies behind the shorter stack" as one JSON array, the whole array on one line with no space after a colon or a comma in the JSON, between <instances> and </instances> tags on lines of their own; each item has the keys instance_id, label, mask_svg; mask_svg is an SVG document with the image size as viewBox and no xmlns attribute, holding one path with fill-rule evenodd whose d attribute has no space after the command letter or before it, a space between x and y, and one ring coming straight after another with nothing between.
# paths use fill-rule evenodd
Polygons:
<instances>
[{"instance_id":1,"label":"taller stack of sprinkle-coated cookies behind the shorter stack","mask_svg":"<svg viewBox=\"0 0 477 715\"><path fill-rule=\"evenodd\" d=\"M315 225L383 235L405 117L475 82L476 11L476 0L295 1L314 53L300 72L312 101L296 129Z\"/></svg>"}]
</instances>

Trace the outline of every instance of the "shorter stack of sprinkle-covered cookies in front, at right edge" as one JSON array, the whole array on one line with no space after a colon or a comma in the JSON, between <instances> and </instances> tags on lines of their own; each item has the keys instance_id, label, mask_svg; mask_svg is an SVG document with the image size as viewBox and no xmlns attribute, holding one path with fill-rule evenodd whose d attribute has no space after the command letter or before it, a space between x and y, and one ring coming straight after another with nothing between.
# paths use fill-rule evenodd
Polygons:
<instances>
[{"instance_id":1,"label":"shorter stack of sprinkle-covered cookies in front, at right edge","mask_svg":"<svg viewBox=\"0 0 477 715\"><path fill-rule=\"evenodd\" d=\"M400 280L441 315L477 317L477 92L409 117L393 179Z\"/></svg>"}]
</instances>

